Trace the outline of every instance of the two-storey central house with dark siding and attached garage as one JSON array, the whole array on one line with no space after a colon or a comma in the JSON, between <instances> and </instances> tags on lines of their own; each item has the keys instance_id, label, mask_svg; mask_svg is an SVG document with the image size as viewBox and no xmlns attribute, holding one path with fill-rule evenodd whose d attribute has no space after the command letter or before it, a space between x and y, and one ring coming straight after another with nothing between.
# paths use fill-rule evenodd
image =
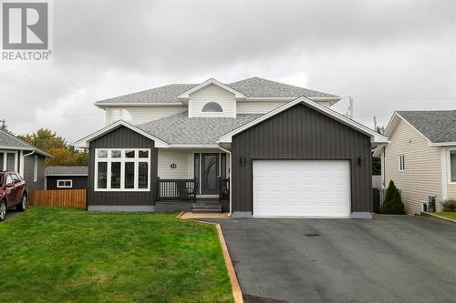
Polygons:
<instances>
[{"instance_id":1,"label":"two-storey central house with dark siding and attached garage","mask_svg":"<svg viewBox=\"0 0 456 303\"><path fill-rule=\"evenodd\" d=\"M98 101L108 126L77 142L88 209L371 217L371 146L387 138L329 109L339 99L254 77Z\"/></svg>"}]
</instances>

